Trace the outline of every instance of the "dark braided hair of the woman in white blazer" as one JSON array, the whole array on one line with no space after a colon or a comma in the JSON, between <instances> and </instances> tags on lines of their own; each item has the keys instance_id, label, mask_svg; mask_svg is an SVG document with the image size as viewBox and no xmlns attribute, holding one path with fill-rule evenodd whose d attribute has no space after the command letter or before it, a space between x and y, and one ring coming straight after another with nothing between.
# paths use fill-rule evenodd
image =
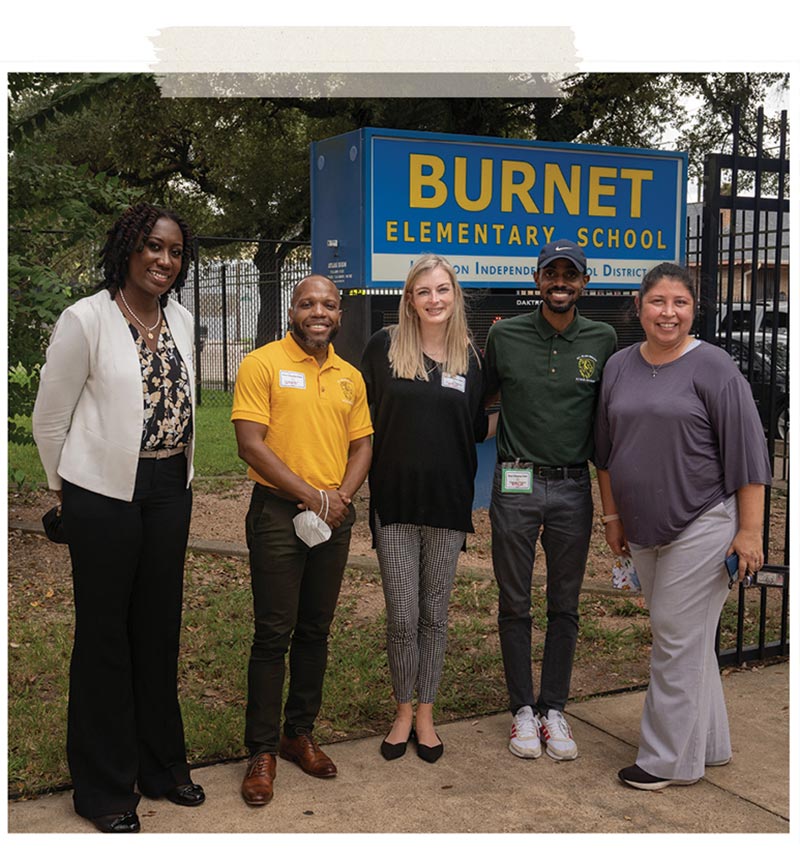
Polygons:
<instances>
[{"instance_id":1,"label":"dark braided hair of the woman in white blazer","mask_svg":"<svg viewBox=\"0 0 800 858\"><path fill-rule=\"evenodd\" d=\"M159 299L161 306L166 305L167 296L170 292L173 290L175 292L180 291L186 282L189 263L192 261L192 231L180 215L169 209L146 202L136 203L123 212L106 234L106 243L100 251L100 267L103 270L103 279L97 286L98 290L108 289L113 298L118 289L125 287L128 260L131 253L140 253L143 250L145 239L150 235L156 221L162 217L175 221L180 227L183 235L183 258L178 276L172 286Z\"/></svg>"}]
</instances>

